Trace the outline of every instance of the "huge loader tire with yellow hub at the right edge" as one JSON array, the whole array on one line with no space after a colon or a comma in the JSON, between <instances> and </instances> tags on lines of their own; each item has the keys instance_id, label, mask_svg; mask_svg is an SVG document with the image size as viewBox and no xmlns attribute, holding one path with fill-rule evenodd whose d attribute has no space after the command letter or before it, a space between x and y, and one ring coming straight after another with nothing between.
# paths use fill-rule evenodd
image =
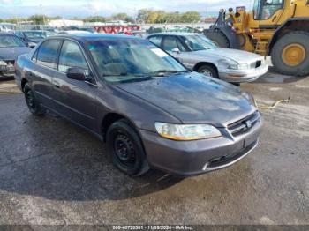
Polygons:
<instances>
[{"instance_id":1,"label":"huge loader tire with yellow hub at the right edge","mask_svg":"<svg viewBox=\"0 0 309 231\"><path fill-rule=\"evenodd\" d=\"M283 37L275 43L271 52L271 60L275 70L284 75L308 75L308 41L309 33L307 32L291 32L283 35Z\"/></svg>"}]
</instances>

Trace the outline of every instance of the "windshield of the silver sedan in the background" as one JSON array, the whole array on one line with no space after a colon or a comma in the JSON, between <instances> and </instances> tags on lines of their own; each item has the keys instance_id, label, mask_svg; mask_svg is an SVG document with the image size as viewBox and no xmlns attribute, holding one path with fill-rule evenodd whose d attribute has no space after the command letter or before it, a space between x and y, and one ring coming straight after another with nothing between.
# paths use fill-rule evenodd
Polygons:
<instances>
[{"instance_id":1,"label":"windshield of the silver sedan in the background","mask_svg":"<svg viewBox=\"0 0 309 231\"><path fill-rule=\"evenodd\" d=\"M217 48L213 41L208 40L204 35L188 35L183 37L185 44L192 50L204 50Z\"/></svg>"}]
</instances>

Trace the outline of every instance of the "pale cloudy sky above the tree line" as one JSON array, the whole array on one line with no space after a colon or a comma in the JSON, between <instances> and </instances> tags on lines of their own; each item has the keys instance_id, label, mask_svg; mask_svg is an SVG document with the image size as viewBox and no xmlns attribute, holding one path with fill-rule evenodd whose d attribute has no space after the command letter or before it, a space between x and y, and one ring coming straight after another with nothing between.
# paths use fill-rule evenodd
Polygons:
<instances>
[{"instance_id":1,"label":"pale cloudy sky above the tree line","mask_svg":"<svg viewBox=\"0 0 309 231\"><path fill-rule=\"evenodd\" d=\"M110 16L117 12L136 15L142 8L164 11L200 11L203 14L221 8L249 6L253 0L0 0L0 18L26 17L33 14L60 15L64 18L94 15Z\"/></svg>"}]
</instances>

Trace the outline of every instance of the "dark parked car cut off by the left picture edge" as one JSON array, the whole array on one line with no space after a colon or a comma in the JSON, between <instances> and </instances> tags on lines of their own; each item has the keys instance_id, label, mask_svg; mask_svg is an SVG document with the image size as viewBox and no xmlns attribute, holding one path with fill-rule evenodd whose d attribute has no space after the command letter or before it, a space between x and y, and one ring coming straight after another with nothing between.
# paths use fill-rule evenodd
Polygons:
<instances>
[{"instance_id":1,"label":"dark parked car cut off by the left picture edge","mask_svg":"<svg viewBox=\"0 0 309 231\"><path fill-rule=\"evenodd\" d=\"M30 51L14 34L0 33L0 75L12 74L17 57Z\"/></svg>"}]
</instances>

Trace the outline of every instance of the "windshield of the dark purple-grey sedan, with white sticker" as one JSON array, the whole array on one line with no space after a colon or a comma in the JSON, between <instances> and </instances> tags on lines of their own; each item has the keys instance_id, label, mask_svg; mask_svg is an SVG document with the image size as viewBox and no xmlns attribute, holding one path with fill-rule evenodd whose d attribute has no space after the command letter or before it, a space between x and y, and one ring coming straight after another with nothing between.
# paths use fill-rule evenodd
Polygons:
<instances>
[{"instance_id":1,"label":"windshield of the dark purple-grey sedan, with white sticker","mask_svg":"<svg viewBox=\"0 0 309 231\"><path fill-rule=\"evenodd\" d=\"M128 82L164 77L186 71L162 49L139 39L89 41L87 47L102 78Z\"/></svg>"}]
</instances>

